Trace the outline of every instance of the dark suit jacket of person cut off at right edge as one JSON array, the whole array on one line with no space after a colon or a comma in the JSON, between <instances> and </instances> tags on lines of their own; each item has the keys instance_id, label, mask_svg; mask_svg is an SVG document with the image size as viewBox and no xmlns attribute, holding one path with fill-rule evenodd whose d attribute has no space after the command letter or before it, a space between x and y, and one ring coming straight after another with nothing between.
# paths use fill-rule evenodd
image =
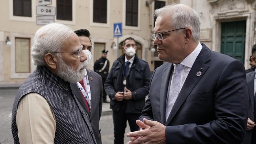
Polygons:
<instances>
[{"instance_id":1,"label":"dark suit jacket of person cut off at right edge","mask_svg":"<svg viewBox=\"0 0 256 144\"><path fill-rule=\"evenodd\" d=\"M253 111L254 111L254 78L255 78L255 70L246 74L247 88L249 92L249 111L248 117L254 121ZM255 127L253 129L255 131ZM246 131L245 139L243 140L243 144L250 144L252 139L252 131ZM256 137L256 136L254 136Z\"/></svg>"}]
</instances>

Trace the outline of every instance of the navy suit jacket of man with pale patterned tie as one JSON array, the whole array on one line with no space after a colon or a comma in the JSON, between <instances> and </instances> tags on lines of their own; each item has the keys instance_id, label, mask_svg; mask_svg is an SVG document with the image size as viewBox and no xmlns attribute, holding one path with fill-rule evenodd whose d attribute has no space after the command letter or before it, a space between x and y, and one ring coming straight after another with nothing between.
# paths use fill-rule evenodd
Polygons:
<instances>
[{"instance_id":1,"label":"navy suit jacket of man with pale patterned tie","mask_svg":"<svg viewBox=\"0 0 256 144\"><path fill-rule=\"evenodd\" d=\"M240 144L249 102L243 63L204 44L165 122L172 63L154 71L139 118L161 122L167 144ZM197 76L198 71L202 71Z\"/></svg>"}]
</instances>

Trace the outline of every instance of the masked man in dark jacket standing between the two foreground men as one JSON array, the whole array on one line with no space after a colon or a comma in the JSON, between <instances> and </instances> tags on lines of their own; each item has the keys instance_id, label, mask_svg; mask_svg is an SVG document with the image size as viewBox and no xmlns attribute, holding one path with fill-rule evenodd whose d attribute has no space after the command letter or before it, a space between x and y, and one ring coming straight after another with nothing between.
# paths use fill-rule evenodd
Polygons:
<instances>
[{"instance_id":1,"label":"masked man in dark jacket standing between the two foreground men","mask_svg":"<svg viewBox=\"0 0 256 144\"><path fill-rule=\"evenodd\" d=\"M124 143L124 132L128 120L130 130L138 130L136 120L145 105L151 72L146 61L138 58L136 43L132 37L123 41L121 55L108 74L105 90L113 110L114 144Z\"/></svg>"}]
</instances>

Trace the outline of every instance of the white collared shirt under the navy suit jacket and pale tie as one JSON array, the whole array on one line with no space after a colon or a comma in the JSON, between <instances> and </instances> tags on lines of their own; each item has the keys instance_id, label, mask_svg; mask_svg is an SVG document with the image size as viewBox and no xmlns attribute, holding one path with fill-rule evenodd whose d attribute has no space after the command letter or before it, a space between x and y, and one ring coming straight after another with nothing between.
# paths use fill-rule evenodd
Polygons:
<instances>
[{"instance_id":1,"label":"white collared shirt under the navy suit jacket and pale tie","mask_svg":"<svg viewBox=\"0 0 256 144\"><path fill-rule=\"evenodd\" d=\"M181 83L180 83L180 89L179 91L181 90L186 78L187 78L187 75L189 74L189 71L191 70L195 60L197 59L197 56L199 55L199 53L201 52L202 50L202 45L200 44L200 42L198 42L198 45L197 47L195 48L195 50L193 50L193 52L191 52L189 55L187 55L187 57L185 59L183 59L182 62L180 62L180 64L184 65L182 70L181 70ZM173 64L173 66L176 65L176 64Z\"/></svg>"}]
</instances>

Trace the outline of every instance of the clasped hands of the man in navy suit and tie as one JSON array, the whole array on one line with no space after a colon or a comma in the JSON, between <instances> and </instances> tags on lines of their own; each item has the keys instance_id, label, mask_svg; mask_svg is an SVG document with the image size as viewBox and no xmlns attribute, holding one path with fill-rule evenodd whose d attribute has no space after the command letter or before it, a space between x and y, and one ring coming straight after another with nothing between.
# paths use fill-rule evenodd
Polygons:
<instances>
[{"instance_id":1,"label":"clasped hands of the man in navy suit and tie","mask_svg":"<svg viewBox=\"0 0 256 144\"><path fill-rule=\"evenodd\" d=\"M165 144L165 126L157 121L143 119L142 122L136 121L137 125L144 130L134 131L127 133L127 137L130 138L130 142L127 144Z\"/></svg>"}]
</instances>

